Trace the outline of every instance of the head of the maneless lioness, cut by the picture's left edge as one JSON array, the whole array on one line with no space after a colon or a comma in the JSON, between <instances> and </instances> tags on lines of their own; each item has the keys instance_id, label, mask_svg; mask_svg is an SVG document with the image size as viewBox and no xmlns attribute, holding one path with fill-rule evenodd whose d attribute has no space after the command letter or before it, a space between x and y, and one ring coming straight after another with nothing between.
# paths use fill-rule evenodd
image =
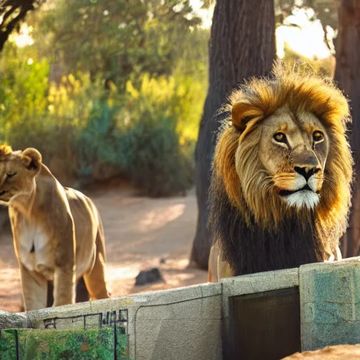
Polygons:
<instances>
[{"instance_id":1,"label":"head of the maneless lioness, cut by the picture's left edge","mask_svg":"<svg viewBox=\"0 0 360 360\"><path fill-rule=\"evenodd\" d=\"M0 146L0 202L6 204L16 195L30 194L40 169L41 154L36 149L21 152Z\"/></svg>"}]
</instances>

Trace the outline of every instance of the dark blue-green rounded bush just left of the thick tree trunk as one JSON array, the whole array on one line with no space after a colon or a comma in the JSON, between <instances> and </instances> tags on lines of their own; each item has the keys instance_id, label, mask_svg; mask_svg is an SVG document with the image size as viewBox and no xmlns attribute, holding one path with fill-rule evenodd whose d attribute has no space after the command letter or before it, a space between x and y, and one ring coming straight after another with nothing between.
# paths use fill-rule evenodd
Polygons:
<instances>
[{"instance_id":1,"label":"dark blue-green rounded bush just left of the thick tree trunk","mask_svg":"<svg viewBox=\"0 0 360 360\"><path fill-rule=\"evenodd\" d=\"M124 174L150 196L186 191L193 184L193 159L181 148L172 119L142 115L121 137Z\"/></svg>"}]
</instances>

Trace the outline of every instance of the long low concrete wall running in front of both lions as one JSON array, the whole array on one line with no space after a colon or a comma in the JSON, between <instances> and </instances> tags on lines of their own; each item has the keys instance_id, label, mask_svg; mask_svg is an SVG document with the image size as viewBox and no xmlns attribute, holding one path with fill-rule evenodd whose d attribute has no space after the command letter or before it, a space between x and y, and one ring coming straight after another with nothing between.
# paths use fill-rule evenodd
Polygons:
<instances>
[{"instance_id":1,"label":"long low concrete wall running in front of both lions","mask_svg":"<svg viewBox=\"0 0 360 360\"><path fill-rule=\"evenodd\" d=\"M127 309L129 359L217 360L221 319L226 326L231 316L230 297L294 286L300 288L302 350L360 343L360 257L30 311L27 316L14 314L13 320L0 312L0 328L26 323L38 329L84 326L83 321L63 319L70 316L87 316L86 326L98 326L100 318L111 326L111 319L120 321L120 310Z\"/></svg>"}]
</instances>

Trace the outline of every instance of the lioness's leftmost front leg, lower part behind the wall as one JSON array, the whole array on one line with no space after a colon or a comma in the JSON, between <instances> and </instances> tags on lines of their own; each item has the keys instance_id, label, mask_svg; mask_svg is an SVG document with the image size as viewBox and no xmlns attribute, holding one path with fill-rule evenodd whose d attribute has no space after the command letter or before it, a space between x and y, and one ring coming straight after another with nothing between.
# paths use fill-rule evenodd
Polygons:
<instances>
[{"instance_id":1,"label":"lioness's leftmost front leg, lower part behind the wall","mask_svg":"<svg viewBox=\"0 0 360 360\"><path fill-rule=\"evenodd\" d=\"M20 275L25 311L46 308L46 279L30 272L23 264L20 264Z\"/></svg>"}]
</instances>

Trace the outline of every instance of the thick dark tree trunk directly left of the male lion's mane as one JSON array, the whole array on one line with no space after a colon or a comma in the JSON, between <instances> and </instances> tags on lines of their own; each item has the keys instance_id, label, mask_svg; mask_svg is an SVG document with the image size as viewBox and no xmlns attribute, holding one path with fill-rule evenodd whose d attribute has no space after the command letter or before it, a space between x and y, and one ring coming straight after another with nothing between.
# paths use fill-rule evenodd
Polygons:
<instances>
[{"instance_id":1,"label":"thick dark tree trunk directly left of the male lion's mane","mask_svg":"<svg viewBox=\"0 0 360 360\"><path fill-rule=\"evenodd\" d=\"M209 44L210 82L195 149L198 200L191 263L207 269L212 236L207 229L210 167L219 121L212 118L231 90L252 76L268 75L276 55L273 0L218 0Z\"/></svg>"}]
</instances>

